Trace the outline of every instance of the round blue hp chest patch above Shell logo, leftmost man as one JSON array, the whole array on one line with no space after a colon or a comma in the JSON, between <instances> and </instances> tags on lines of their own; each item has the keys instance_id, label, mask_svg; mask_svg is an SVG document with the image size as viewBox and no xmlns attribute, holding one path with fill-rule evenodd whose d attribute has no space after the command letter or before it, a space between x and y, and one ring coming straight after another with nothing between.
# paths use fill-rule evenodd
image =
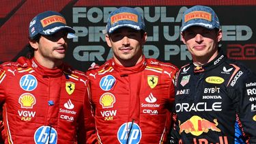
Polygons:
<instances>
[{"instance_id":1,"label":"round blue hp chest patch above Shell logo, leftmost man","mask_svg":"<svg viewBox=\"0 0 256 144\"><path fill-rule=\"evenodd\" d=\"M25 91L33 91L38 86L38 80L32 74L20 78L20 87Z\"/></svg>"}]
</instances>

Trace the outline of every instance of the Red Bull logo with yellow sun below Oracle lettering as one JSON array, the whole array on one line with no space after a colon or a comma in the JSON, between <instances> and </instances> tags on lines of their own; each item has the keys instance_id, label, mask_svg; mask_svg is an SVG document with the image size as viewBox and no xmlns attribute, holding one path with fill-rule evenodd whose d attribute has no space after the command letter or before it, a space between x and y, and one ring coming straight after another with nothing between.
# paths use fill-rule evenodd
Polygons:
<instances>
[{"instance_id":1,"label":"Red Bull logo with yellow sun below Oracle lettering","mask_svg":"<svg viewBox=\"0 0 256 144\"><path fill-rule=\"evenodd\" d=\"M202 119L201 117L194 115L183 124L180 124L180 134L186 132L186 134L191 133L195 136L199 136L203 132L208 132L209 130L221 132L218 126L217 119L214 119L214 122L208 121L207 119Z\"/></svg>"}]
</instances>

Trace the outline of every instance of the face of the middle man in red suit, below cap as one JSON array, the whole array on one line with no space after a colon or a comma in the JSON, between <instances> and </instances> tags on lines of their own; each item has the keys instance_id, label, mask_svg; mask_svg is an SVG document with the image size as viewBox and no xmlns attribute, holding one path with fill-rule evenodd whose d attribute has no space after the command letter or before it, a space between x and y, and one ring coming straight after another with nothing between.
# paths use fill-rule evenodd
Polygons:
<instances>
[{"instance_id":1,"label":"face of the middle man in red suit, below cap","mask_svg":"<svg viewBox=\"0 0 256 144\"><path fill-rule=\"evenodd\" d=\"M142 46L147 39L147 33L141 35L129 27L115 30L111 35L106 35L106 42L113 50L115 61L123 66L129 63L138 63L142 59Z\"/></svg>"}]
</instances>

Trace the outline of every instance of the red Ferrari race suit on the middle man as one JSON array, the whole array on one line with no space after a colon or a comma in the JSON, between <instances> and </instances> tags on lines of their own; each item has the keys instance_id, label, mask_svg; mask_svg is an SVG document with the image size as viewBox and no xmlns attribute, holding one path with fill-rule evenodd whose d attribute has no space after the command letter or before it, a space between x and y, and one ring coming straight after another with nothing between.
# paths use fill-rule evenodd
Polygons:
<instances>
[{"instance_id":1,"label":"red Ferrari race suit on the middle man","mask_svg":"<svg viewBox=\"0 0 256 144\"><path fill-rule=\"evenodd\" d=\"M99 143L167 143L177 68L156 59L87 71Z\"/></svg>"}]
</instances>

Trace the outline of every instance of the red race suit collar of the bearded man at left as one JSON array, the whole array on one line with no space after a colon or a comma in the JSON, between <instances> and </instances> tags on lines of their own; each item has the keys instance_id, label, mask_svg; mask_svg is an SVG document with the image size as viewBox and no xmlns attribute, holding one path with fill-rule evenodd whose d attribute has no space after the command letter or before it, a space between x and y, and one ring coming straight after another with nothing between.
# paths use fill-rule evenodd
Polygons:
<instances>
[{"instance_id":1,"label":"red race suit collar of the bearded man at left","mask_svg":"<svg viewBox=\"0 0 256 144\"><path fill-rule=\"evenodd\" d=\"M63 64L59 68L45 68L41 66L35 58L29 59L31 67L42 76L56 77L61 76L63 74Z\"/></svg>"}]
</instances>

